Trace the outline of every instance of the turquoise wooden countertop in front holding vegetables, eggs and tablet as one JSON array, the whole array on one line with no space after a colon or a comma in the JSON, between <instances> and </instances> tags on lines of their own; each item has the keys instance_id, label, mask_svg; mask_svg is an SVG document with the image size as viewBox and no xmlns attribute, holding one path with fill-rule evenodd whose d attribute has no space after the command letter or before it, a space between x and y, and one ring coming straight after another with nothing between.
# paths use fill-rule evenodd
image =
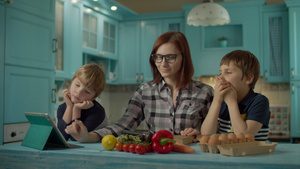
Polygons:
<instances>
[{"instance_id":1,"label":"turquoise wooden countertop in front holding vegetables, eggs and tablet","mask_svg":"<svg viewBox=\"0 0 300 169\"><path fill-rule=\"evenodd\" d=\"M278 144L268 154L231 157L203 153L197 143L193 154L171 152L144 155L106 151L101 143L81 144L81 148L36 150L12 143L0 146L0 168L300 168L300 144Z\"/></svg>"}]
</instances>

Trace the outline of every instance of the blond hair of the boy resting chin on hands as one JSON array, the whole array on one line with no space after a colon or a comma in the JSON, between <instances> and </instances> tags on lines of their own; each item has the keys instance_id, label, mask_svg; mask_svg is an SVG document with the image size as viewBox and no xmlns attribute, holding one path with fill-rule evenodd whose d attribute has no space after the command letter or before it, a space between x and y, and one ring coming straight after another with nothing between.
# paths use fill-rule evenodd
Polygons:
<instances>
[{"instance_id":1,"label":"blond hair of the boy resting chin on hands","mask_svg":"<svg viewBox=\"0 0 300 169\"><path fill-rule=\"evenodd\" d=\"M72 82L78 78L80 82L88 88L95 91L95 98L104 90L106 78L96 63L85 64L81 66L74 74Z\"/></svg>"}]
</instances>

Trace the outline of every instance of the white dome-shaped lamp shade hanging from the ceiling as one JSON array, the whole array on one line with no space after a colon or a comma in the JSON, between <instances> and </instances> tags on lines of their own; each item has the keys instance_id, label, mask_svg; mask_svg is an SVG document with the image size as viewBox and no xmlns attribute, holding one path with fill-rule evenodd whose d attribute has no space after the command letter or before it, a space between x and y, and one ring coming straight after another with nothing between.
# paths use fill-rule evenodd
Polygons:
<instances>
[{"instance_id":1,"label":"white dome-shaped lamp shade hanging from the ceiling","mask_svg":"<svg viewBox=\"0 0 300 169\"><path fill-rule=\"evenodd\" d=\"M187 24L194 26L216 26L230 22L227 10L216 3L202 3L195 6L187 17Z\"/></svg>"}]
</instances>

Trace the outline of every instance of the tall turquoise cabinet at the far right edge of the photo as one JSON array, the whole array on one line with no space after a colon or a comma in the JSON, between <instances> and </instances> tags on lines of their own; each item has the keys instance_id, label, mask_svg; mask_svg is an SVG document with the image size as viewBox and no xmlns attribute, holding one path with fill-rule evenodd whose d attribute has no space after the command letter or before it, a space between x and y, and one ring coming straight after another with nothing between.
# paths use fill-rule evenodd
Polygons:
<instances>
[{"instance_id":1,"label":"tall turquoise cabinet at the far right edge of the photo","mask_svg":"<svg viewBox=\"0 0 300 169\"><path fill-rule=\"evenodd\" d=\"M300 139L300 1L286 0L289 15L291 139Z\"/></svg>"}]
</instances>

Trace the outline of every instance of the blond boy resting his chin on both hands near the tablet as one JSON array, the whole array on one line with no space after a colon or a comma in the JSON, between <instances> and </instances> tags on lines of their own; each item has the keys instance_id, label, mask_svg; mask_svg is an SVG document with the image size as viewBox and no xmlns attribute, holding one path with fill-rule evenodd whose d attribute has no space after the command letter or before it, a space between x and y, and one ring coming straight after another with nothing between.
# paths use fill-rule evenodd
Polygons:
<instances>
[{"instance_id":1,"label":"blond boy resting his chin on both hands near the tablet","mask_svg":"<svg viewBox=\"0 0 300 169\"><path fill-rule=\"evenodd\" d=\"M95 99L104 87L105 75L97 64L83 65L75 72L70 89L63 90L65 103L57 109L57 125L66 140L75 141L65 132L65 128L75 120L81 120L88 131L102 123L105 110Z\"/></svg>"}]
</instances>

